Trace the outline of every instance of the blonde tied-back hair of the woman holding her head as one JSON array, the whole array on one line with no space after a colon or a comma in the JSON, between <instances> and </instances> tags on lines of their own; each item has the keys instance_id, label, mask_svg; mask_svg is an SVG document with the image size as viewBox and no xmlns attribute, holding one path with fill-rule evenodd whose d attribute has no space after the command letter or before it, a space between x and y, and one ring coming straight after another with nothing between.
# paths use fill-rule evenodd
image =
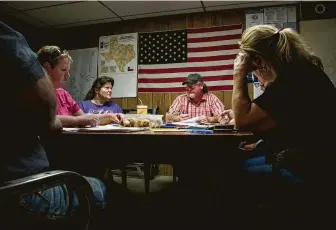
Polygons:
<instances>
[{"instance_id":1,"label":"blonde tied-back hair of the woman holding her head","mask_svg":"<svg viewBox=\"0 0 336 230\"><path fill-rule=\"evenodd\" d=\"M248 55L261 55L275 66L308 62L323 69L322 61L310 50L308 43L296 31L278 30L270 25L246 29L240 49Z\"/></svg>"}]
</instances>

